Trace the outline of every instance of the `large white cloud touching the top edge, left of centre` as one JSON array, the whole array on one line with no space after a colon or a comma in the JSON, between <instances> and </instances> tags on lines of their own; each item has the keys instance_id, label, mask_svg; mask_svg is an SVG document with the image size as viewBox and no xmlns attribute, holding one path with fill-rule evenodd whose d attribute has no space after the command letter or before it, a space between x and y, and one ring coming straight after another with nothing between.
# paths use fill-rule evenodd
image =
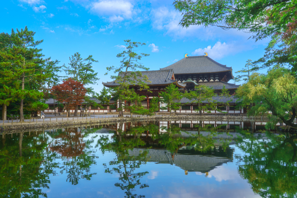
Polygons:
<instances>
[{"instance_id":1,"label":"large white cloud touching the top edge, left of centre","mask_svg":"<svg viewBox=\"0 0 297 198\"><path fill-rule=\"evenodd\" d=\"M111 16L110 20L132 17L133 5L126 0L100 0L88 7L97 15Z\"/></svg>"}]
</instances>

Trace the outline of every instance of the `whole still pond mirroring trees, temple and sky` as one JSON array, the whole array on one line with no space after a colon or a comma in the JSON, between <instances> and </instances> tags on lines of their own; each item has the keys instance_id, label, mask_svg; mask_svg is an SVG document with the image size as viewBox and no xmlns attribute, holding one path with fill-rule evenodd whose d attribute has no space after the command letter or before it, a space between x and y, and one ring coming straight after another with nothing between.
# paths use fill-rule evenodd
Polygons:
<instances>
[{"instance_id":1,"label":"whole still pond mirroring trees, temple and sky","mask_svg":"<svg viewBox=\"0 0 297 198\"><path fill-rule=\"evenodd\" d=\"M253 124L134 122L1 135L0 197L296 197L297 136L250 133Z\"/></svg>"}]
</instances>

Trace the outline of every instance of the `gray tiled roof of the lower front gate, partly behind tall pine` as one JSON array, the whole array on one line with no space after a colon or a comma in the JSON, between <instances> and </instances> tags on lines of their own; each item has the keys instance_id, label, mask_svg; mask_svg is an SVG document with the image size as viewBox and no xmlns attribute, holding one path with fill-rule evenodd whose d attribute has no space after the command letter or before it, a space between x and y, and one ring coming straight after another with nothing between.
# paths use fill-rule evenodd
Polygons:
<instances>
[{"instance_id":1,"label":"gray tiled roof of the lower front gate, partly behind tall pine","mask_svg":"<svg viewBox=\"0 0 297 198\"><path fill-rule=\"evenodd\" d=\"M147 85L168 85L171 83L177 83L176 80L171 80L171 77L173 75L172 69L166 69L166 70L152 70L152 71L141 71L141 74L143 76L146 75L148 77L148 80L151 82L148 82ZM140 79L140 77L138 78ZM118 86L119 84L115 81L102 83L103 85L107 87L113 87ZM129 83L131 85L131 83ZM177 83L181 87L185 87L186 85L182 85L181 83Z\"/></svg>"}]
</instances>

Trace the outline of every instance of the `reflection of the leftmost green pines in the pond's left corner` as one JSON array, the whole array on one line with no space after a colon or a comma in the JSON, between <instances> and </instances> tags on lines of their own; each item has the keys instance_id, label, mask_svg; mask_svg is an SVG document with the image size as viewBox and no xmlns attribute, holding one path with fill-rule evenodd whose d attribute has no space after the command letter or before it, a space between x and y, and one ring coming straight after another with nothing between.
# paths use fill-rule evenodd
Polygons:
<instances>
[{"instance_id":1,"label":"reflection of the leftmost green pines in the pond's left corner","mask_svg":"<svg viewBox=\"0 0 297 198\"><path fill-rule=\"evenodd\" d=\"M42 167L47 146L43 134L6 135L0 143L0 197L47 197L48 171Z\"/></svg>"}]
</instances>

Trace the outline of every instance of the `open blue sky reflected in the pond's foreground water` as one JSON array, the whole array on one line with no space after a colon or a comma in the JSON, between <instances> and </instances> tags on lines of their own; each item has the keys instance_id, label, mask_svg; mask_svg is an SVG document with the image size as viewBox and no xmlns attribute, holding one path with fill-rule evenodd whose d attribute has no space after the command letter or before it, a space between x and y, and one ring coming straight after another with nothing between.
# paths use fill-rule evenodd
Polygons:
<instances>
[{"instance_id":1,"label":"open blue sky reflected in the pond's foreground water","mask_svg":"<svg viewBox=\"0 0 297 198\"><path fill-rule=\"evenodd\" d=\"M100 134L91 134L90 137L98 135L92 150L95 152L96 164L91 165L90 173L97 173L92 175L91 180L80 179L77 185L72 185L67 180L67 174L60 173L57 170L56 176L50 175L49 189L43 191L47 193L48 197L124 197L124 191L115 186L119 183L118 173L105 173L103 164L107 167L116 167L109 165L109 162L116 159L116 153L105 151L102 154L100 148L94 148ZM113 134L104 134L111 137ZM175 164L164 164L156 162L147 162L136 168L134 172L149 173L140 179L140 183L149 185L147 188L140 189L139 186L135 187L134 193L137 195L145 195L145 197L170 197L170 198L191 198L191 197L228 197L228 198L248 198L260 197L255 194L246 180L243 180L238 174L237 159L235 155L242 154L235 145L230 145L234 148L233 161L223 163L221 166L215 167L213 170L206 173L201 172L188 172ZM69 159L71 161L71 159ZM61 159L56 162L61 163ZM85 174L85 173L84 173Z\"/></svg>"}]
</instances>

